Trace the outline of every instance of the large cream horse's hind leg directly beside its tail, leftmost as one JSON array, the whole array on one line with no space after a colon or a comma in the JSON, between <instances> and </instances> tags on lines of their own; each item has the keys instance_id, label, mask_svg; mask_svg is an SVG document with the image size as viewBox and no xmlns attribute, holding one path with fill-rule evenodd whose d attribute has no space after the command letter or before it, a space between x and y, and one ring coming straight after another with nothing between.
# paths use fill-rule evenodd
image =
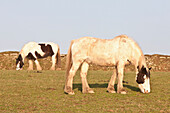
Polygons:
<instances>
[{"instance_id":1,"label":"large cream horse's hind leg directly beside its tail, leftmost","mask_svg":"<svg viewBox=\"0 0 170 113\"><path fill-rule=\"evenodd\" d=\"M76 74L76 71L78 70L79 66L80 66L80 62L77 63L73 63L70 71L69 71L69 75L67 76L67 81L66 81L66 86L64 91L70 95L74 95L74 92L72 90L73 88L73 77Z\"/></svg>"}]
</instances>

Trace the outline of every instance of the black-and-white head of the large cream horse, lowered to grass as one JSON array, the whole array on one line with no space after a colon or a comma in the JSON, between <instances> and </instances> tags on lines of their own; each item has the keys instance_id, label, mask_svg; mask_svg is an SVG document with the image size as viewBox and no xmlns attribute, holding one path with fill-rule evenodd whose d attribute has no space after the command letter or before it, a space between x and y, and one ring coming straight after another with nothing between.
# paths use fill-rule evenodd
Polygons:
<instances>
[{"instance_id":1,"label":"black-and-white head of the large cream horse, lowered to grass","mask_svg":"<svg viewBox=\"0 0 170 113\"><path fill-rule=\"evenodd\" d=\"M147 69L146 67L142 66L139 69L139 73L137 74L136 82L139 85L139 88L142 93L150 93L150 70L151 68Z\"/></svg>"}]
</instances>

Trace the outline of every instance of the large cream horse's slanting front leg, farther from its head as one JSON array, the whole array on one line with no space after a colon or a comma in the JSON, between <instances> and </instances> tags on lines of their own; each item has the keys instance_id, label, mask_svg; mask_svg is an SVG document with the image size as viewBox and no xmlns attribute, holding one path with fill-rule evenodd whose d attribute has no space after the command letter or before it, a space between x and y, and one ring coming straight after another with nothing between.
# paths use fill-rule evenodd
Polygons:
<instances>
[{"instance_id":1,"label":"large cream horse's slanting front leg, farther from its head","mask_svg":"<svg viewBox=\"0 0 170 113\"><path fill-rule=\"evenodd\" d=\"M115 66L115 68L113 69L113 75L112 75L109 85L107 87L107 91L109 93L116 93L115 88L114 88L116 77L117 77L117 67Z\"/></svg>"}]
</instances>

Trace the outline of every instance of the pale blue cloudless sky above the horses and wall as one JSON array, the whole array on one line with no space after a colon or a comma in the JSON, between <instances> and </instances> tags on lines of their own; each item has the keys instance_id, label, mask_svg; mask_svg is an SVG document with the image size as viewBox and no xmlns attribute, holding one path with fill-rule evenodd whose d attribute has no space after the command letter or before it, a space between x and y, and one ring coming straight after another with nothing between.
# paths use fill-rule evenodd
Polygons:
<instances>
[{"instance_id":1,"label":"pale blue cloudless sky above the horses and wall","mask_svg":"<svg viewBox=\"0 0 170 113\"><path fill-rule=\"evenodd\" d=\"M1 0L0 51L29 41L54 42L67 53L84 36L133 38L144 54L170 55L170 0Z\"/></svg>"}]
</instances>

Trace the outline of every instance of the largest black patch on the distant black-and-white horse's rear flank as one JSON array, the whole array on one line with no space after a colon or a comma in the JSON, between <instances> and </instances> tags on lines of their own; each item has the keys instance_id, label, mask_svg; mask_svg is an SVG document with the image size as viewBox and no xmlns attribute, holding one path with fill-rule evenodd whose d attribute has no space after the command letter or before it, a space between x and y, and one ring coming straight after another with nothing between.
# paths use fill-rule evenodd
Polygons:
<instances>
[{"instance_id":1,"label":"largest black patch on the distant black-and-white horse's rear flank","mask_svg":"<svg viewBox=\"0 0 170 113\"><path fill-rule=\"evenodd\" d=\"M41 46L41 50L45 53L44 56L41 56L40 54L39 55L37 54L37 56L39 56L39 57L41 56L40 58L44 58L44 57L47 57L47 56L53 56L54 55L53 49L52 49L50 44L47 44L47 45L38 44L38 45Z\"/></svg>"}]
</instances>

